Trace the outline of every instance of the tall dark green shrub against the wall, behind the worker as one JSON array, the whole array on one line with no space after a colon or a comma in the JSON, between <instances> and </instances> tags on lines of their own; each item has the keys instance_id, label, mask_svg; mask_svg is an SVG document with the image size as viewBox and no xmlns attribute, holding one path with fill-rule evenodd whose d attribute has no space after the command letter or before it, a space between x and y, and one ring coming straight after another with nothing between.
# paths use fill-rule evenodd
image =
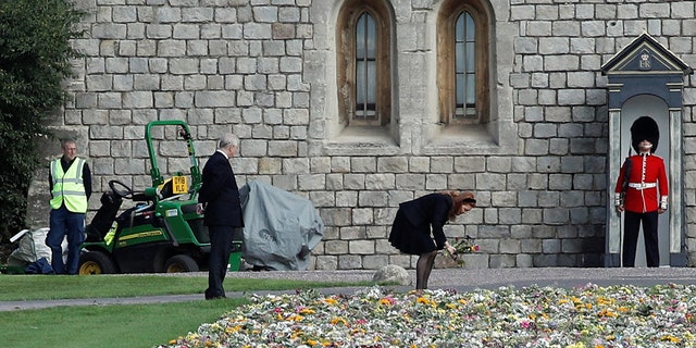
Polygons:
<instances>
[{"instance_id":1,"label":"tall dark green shrub against the wall, behind the worker","mask_svg":"<svg viewBox=\"0 0 696 348\"><path fill-rule=\"evenodd\" d=\"M65 103L83 15L65 0L0 0L0 239L25 225L36 140Z\"/></svg>"}]
</instances>

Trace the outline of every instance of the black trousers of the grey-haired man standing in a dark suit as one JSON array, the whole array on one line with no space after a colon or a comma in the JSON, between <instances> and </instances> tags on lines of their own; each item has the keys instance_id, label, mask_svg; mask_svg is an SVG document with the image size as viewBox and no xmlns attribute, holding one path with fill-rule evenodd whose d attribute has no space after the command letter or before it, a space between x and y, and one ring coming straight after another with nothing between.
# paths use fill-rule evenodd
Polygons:
<instances>
[{"instance_id":1,"label":"black trousers of the grey-haired man standing in a dark suit","mask_svg":"<svg viewBox=\"0 0 696 348\"><path fill-rule=\"evenodd\" d=\"M206 298L219 298L225 296L222 283L227 274L229 253L232 252L232 240L236 229L234 226L208 226L210 234L210 254L208 256L208 289Z\"/></svg>"}]
</instances>

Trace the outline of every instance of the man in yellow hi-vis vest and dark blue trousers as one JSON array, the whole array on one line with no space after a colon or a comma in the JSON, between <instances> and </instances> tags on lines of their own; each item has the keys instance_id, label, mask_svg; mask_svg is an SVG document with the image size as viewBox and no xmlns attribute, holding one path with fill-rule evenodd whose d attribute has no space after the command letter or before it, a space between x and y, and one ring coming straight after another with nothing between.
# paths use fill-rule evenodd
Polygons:
<instances>
[{"instance_id":1,"label":"man in yellow hi-vis vest and dark blue trousers","mask_svg":"<svg viewBox=\"0 0 696 348\"><path fill-rule=\"evenodd\" d=\"M85 240L85 213L91 196L91 173L77 157L74 139L62 139L63 156L51 161L48 175L51 190L50 231L46 245L51 248L51 266L55 274L77 274L79 249ZM67 260L63 262L63 238L67 237Z\"/></svg>"}]
</instances>

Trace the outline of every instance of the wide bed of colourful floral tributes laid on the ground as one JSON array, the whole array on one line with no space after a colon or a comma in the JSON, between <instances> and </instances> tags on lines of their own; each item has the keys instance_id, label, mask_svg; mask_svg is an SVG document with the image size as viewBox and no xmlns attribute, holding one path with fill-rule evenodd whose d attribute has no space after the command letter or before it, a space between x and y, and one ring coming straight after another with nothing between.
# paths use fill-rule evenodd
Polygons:
<instances>
[{"instance_id":1,"label":"wide bed of colourful floral tributes laid on the ground","mask_svg":"<svg viewBox=\"0 0 696 348\"><path fill-rule=\"evenodd\" d=\"M252 296L162 347L696 347L696 286Z\"/></svg>"}]
</instances>

